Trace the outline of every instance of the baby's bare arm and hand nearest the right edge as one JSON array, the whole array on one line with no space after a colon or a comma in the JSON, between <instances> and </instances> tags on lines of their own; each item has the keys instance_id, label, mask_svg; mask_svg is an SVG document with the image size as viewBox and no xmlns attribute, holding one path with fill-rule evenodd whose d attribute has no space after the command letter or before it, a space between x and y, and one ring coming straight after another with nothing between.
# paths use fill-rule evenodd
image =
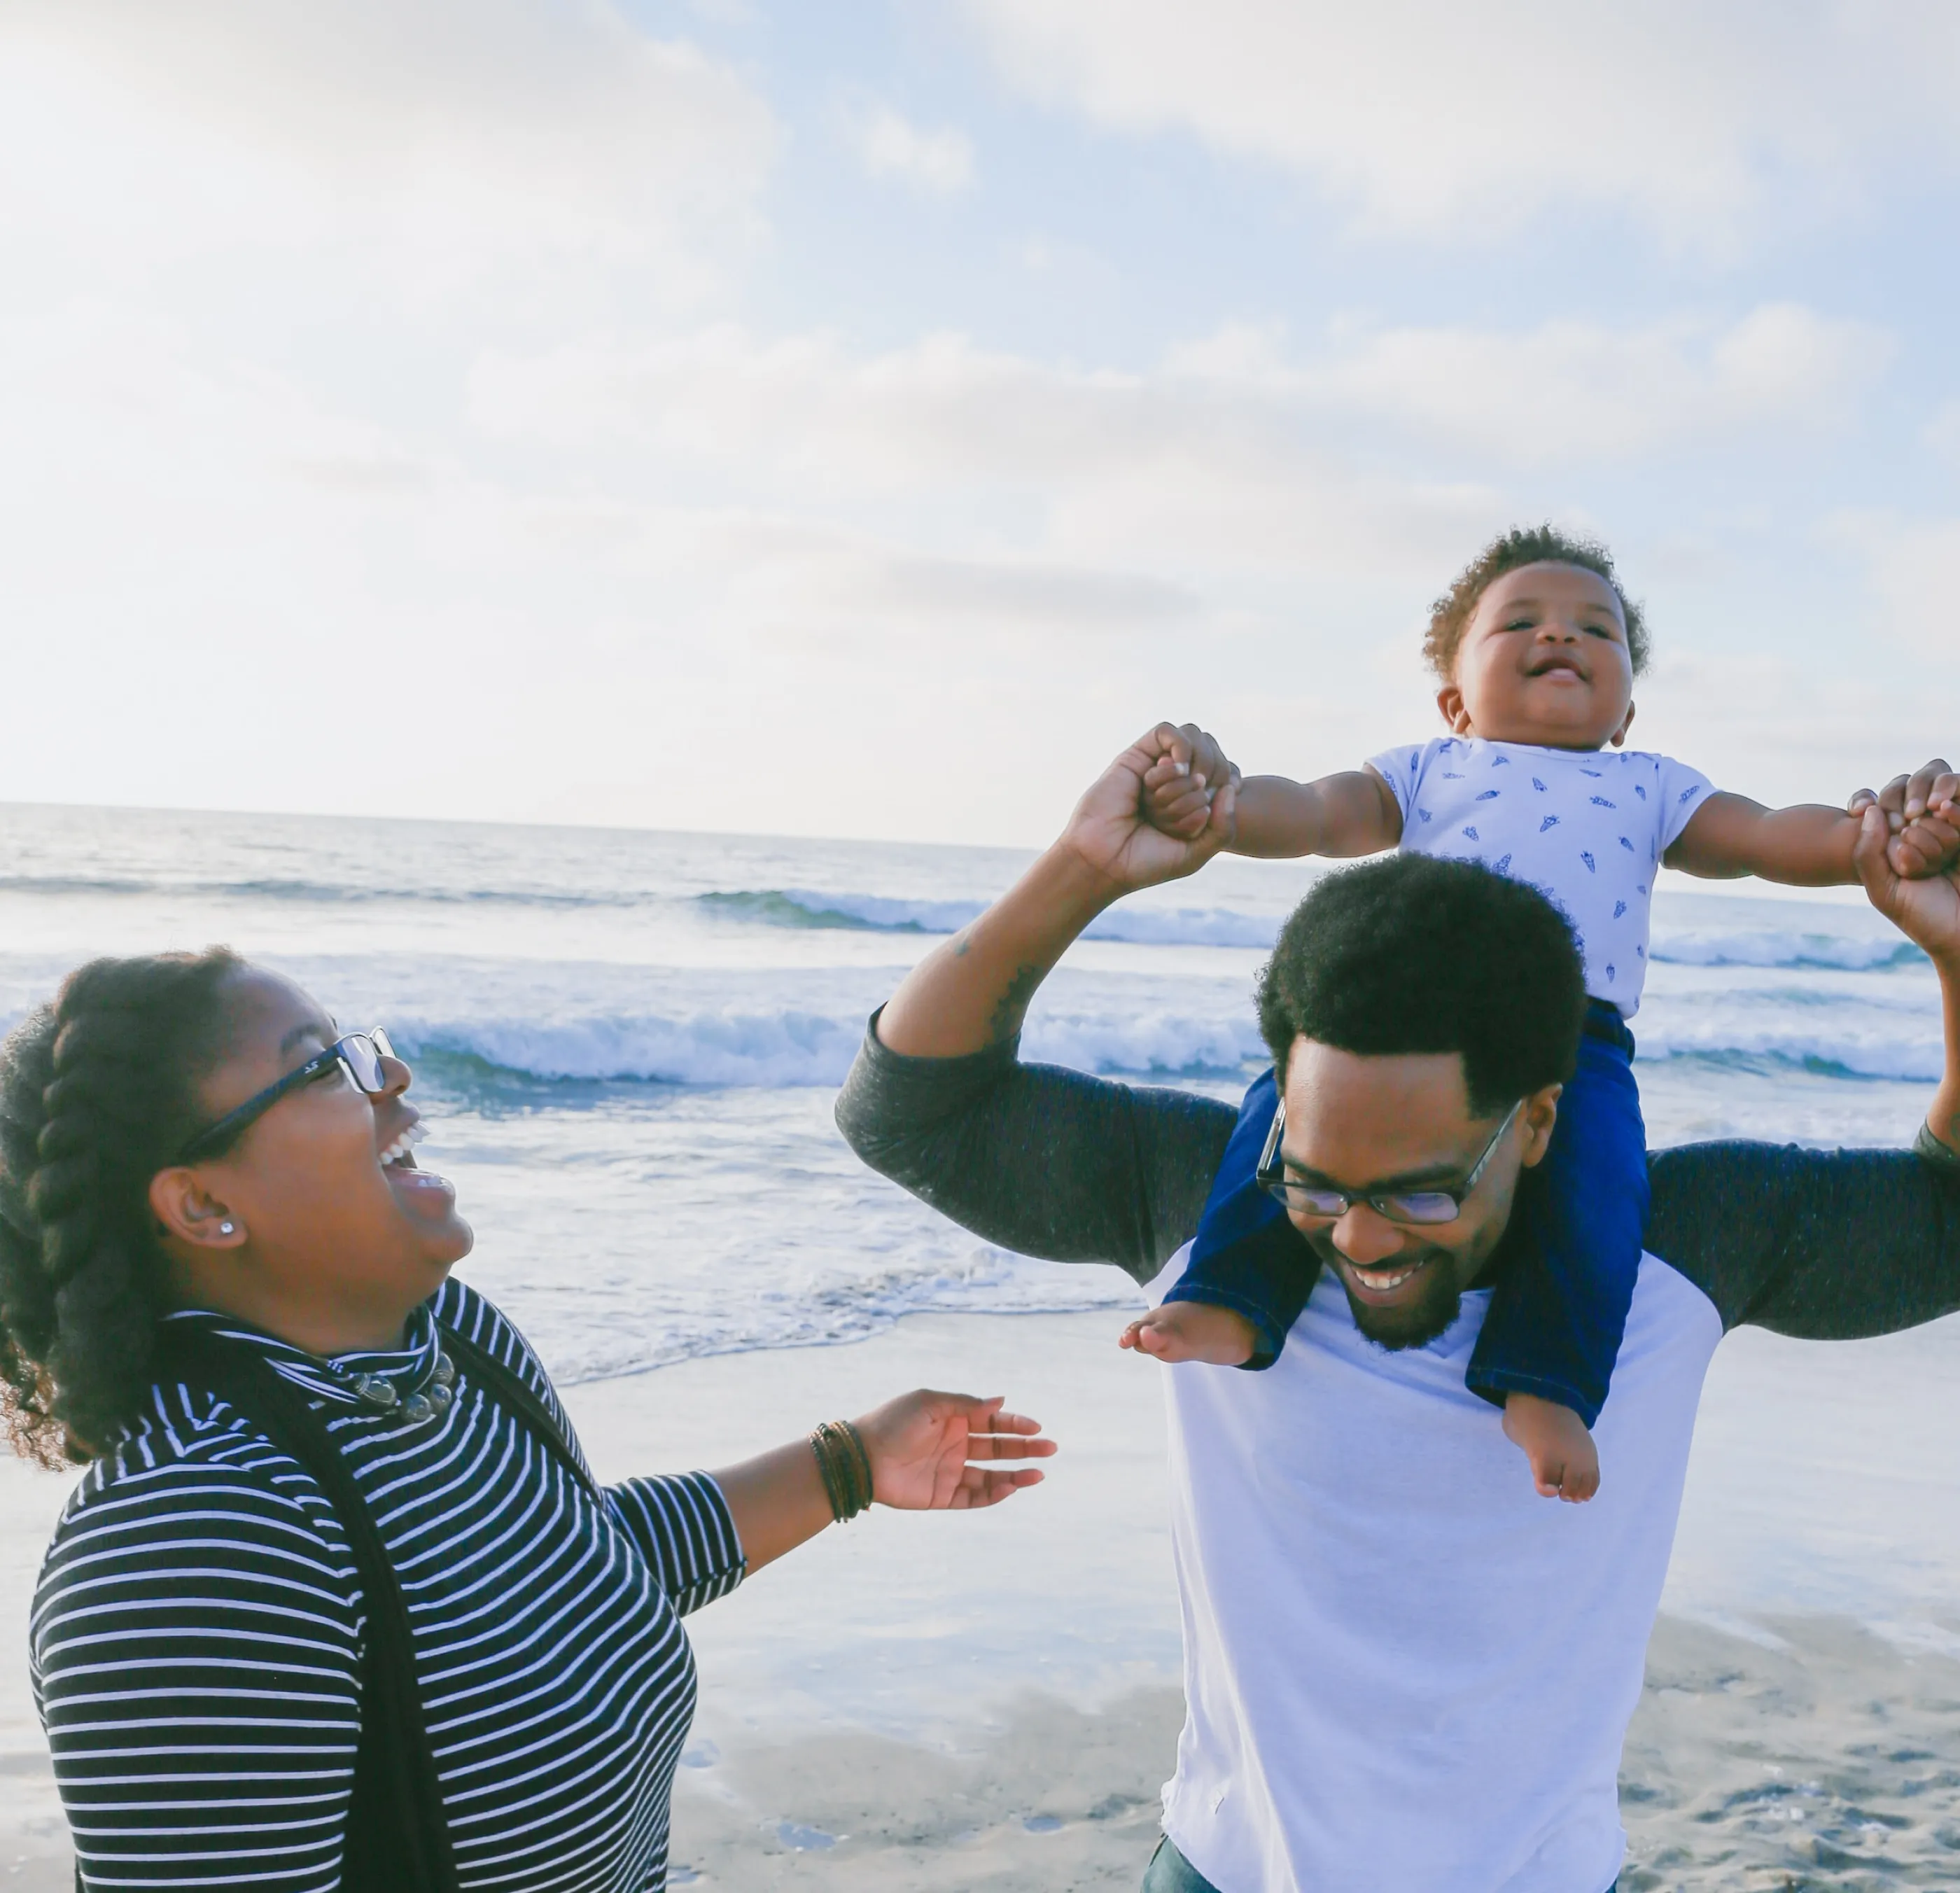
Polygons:
<instances>
[{"instance_id":1,"label":"baby's bare arm and hand nearest the right edge","mask_svg":"<svg viewBox=\"0 0 1960 1893\"><path fill-rule=\"evenodd\" d=\"M1703 880L1754 874L1788 888L1848 886L1858 880L1850 852L1858 839L1858 809L1870 790L1852 796L1852 813L1799 803L1766 809L1748 796L1709 796L1695 809L1666 864ZM1893 815L1893 872L1936 874L1960 847L1960 778L1944 762L1899 778L1884 798Z\"/></svg>"}]
</instances>

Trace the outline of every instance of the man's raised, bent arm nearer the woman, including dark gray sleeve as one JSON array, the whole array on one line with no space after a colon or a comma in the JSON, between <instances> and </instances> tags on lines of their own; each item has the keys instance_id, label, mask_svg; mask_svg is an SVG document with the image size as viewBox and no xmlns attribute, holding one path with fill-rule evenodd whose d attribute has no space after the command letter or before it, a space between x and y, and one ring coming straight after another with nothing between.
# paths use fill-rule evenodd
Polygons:
<instances>
[{"instance_id":1,"label":"man's raised, bent arm nearer the woman, including dark gray sleeve","mask_svg":"<svg viewBox=\"0 0 1960 1893\"><path fill-rule=\"evenodd\" d=\"M1201 868L1229 839L1221 786L1194 839L1141 815L1151 739L1127 749L1062 837L970 927L919 962L872 1019L837 1127L872 1170L990 1242L1151 1280L1198 1229L1233 1111L1027 1066L1029 999L1098 913Z\"/></svg>"}]
</instances>

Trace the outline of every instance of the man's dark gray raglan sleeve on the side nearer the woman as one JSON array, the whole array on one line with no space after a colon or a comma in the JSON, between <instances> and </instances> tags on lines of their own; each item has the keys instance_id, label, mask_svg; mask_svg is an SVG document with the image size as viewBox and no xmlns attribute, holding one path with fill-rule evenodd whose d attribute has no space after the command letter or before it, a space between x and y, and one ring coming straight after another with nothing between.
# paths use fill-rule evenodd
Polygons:
<instances>
[{"instance_id":1,"label":"man's dark gray raglan sleeve on the side nearer the woman","mask_svg":"<svg viewBox=\"0 0 1960 1893\"><path fill-rule=\"evenodd\" d=\"M1021 1064L1017 1043L906 1058L876 1015L837 1097L845 1142L962 1229L1137 1282L1198 1231L1235 1121L1190 1092Z\"/></svg>"}]
</instances>

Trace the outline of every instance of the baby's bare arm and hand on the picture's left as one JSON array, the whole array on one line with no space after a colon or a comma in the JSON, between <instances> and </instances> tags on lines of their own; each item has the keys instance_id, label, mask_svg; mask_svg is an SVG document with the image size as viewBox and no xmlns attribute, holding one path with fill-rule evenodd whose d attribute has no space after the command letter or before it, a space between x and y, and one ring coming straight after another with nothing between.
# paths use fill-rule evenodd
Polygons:
<instances>
[{"instance_id":1,"label":"baby's bare arm and hand on the picture's left","mask_svg":"<svg viewBox=\"0 0 1960 1893\"><path fill-rule=\"evenodd\" d=\"M1158 723L1158 760L1145 776L1145 813L1172 835L1203 829L1215 786L1237 772L1217 739L1198 729ZM1225 845L1233 854L1380 854L1401 841L1401 807L1372 770L1343 770L1319 782L1249 776L1239 782L1237 823Z\"/></svg>"}]
</instances>

